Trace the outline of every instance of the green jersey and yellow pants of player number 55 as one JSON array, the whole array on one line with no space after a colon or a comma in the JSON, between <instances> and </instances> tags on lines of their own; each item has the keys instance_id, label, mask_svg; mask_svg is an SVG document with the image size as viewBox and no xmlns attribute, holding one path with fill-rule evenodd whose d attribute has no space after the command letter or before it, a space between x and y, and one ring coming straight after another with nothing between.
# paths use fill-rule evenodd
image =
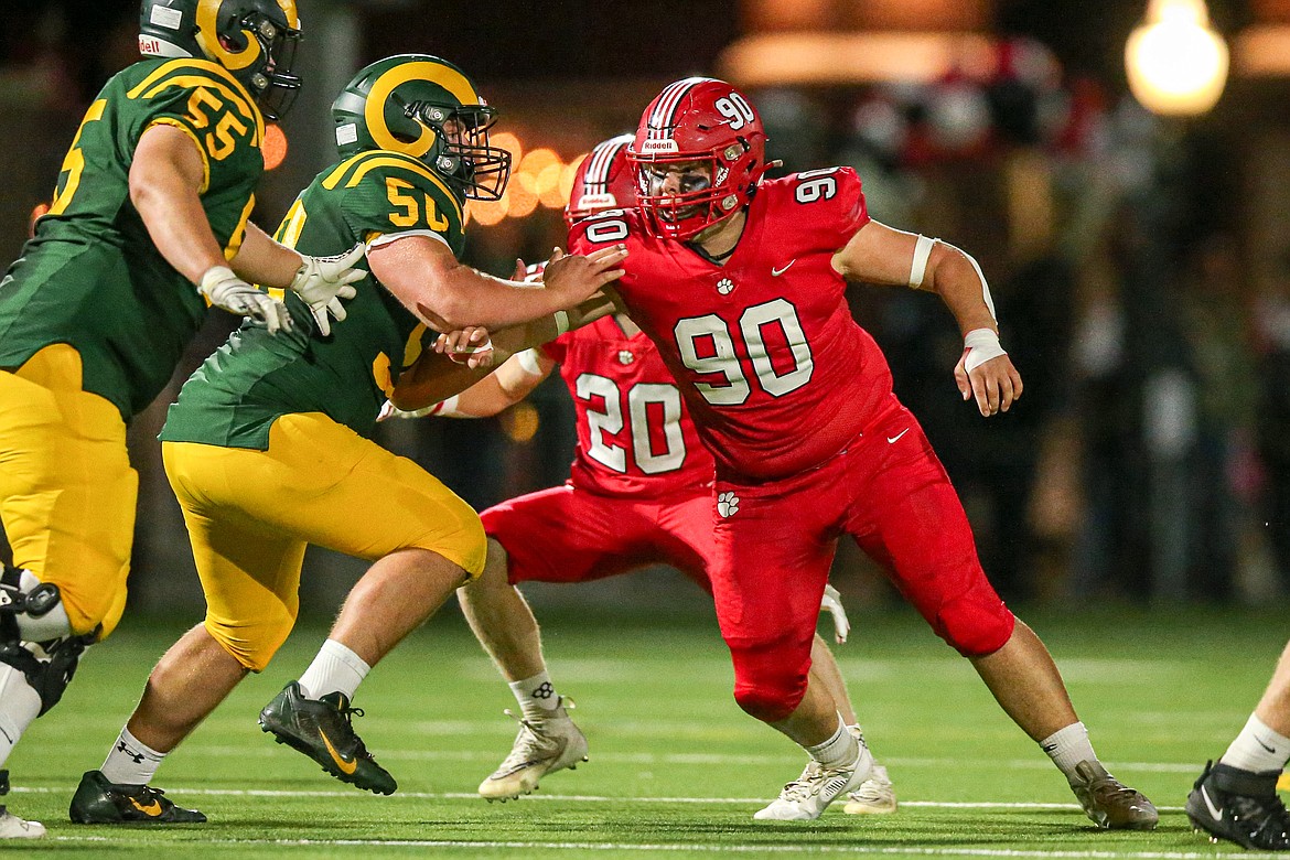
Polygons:
<instances>
[{"instance_id":1,"label":"green jersey and yellow pants of player number 55","mask_svg":"<svg viewBox=\"0 0 1290 860\"><path fill-rule=\"evenodd\" d=\"M0 281L0 516L14 562L62 591L72 627L125 605L137 476L125 422L170 379L205 300L157 251L129 173L154 125L201 152L201 205L232 259L264 169L264 120L201 59L144 59L90 104L49 214Z\"/></svg>"}]
</instances>

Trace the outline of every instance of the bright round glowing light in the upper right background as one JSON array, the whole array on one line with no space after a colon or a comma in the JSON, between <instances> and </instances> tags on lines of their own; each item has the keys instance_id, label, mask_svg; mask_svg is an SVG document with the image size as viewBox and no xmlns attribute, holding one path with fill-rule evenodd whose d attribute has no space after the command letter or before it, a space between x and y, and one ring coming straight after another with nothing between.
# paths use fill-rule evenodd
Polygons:
<instances>
[{"instance_id":1,"label":"bright round glowing light in the upper right background","mask_svg":"<svg viewBox=\"0 0 1290 860\"><path fill-rule=\"evenodd\" d=\"M1197 116L1227 84L1227 43L1205 0L1149 0L1146 21L1125 45L1129 89L1153 113Z\"/></svg>"}]
</instances>

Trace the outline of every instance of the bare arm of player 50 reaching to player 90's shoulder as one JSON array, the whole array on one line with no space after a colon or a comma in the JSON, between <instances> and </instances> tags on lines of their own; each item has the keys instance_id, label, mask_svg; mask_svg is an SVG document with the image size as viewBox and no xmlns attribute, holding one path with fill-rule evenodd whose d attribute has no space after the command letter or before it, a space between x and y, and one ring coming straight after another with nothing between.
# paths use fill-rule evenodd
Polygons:
<instances>
[{"instance_id":1,"label":"bare arm of player 50 reaching to player 90's shoulder","mask_svg":"<svg viewBox=\"0 0 1290 860\"><path fill-rule=\"evenodd\" d=\"M552 255L542 286L485 275L426 236L381 244L368 251L368 263L386 289L436 331L467 326L501 331L577 306L620 277L615 267L626 257L620 246L588 257Z\"/></svg>"}]
</instances>

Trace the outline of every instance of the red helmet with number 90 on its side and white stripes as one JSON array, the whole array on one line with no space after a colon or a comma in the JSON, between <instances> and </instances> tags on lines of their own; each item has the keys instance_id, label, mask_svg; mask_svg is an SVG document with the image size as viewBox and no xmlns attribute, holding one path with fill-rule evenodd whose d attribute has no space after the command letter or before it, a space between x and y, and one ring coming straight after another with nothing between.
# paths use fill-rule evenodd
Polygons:
<instances>
[{"instance_id":1,"label":"red helmet with number 90 on its side and white stripes","mask_svg":"<svg viewBox=\"0 0 1290 860\"><path fill-rule=\"evenodd\" d=\"M645 108L627 160L636 166L650 230L690 239L748 202L766 171L766 130L730 84L686 77L666 86ZM662 178L682 164L697 170L685 171L690 178L677 191L663 193Z\"/></svg>"}]
</instances>

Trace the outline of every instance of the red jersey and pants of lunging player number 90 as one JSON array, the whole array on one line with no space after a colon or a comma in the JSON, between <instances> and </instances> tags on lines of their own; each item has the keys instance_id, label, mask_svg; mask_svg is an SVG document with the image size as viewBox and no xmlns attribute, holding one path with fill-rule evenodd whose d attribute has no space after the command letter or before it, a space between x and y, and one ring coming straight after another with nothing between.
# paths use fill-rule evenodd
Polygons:
<instances>
[{"instance_id":1,"label":"red jersey and pants of lunging player number 90","mask_svg":"<svg viewBox=\"0 0 1290 860\"><path fill-rule=\"evenodd\" d=\"M764 182L724 264L650 235L633 211L591 217L569 239L579 254L628 246L615 286L716 456L712 585L735 696L771 722L805 691L842 534L961 652L989 654L1013 630L962 505L832 268L867 222L859 177L833 168Z\"/></svg>"}]
</instances>

